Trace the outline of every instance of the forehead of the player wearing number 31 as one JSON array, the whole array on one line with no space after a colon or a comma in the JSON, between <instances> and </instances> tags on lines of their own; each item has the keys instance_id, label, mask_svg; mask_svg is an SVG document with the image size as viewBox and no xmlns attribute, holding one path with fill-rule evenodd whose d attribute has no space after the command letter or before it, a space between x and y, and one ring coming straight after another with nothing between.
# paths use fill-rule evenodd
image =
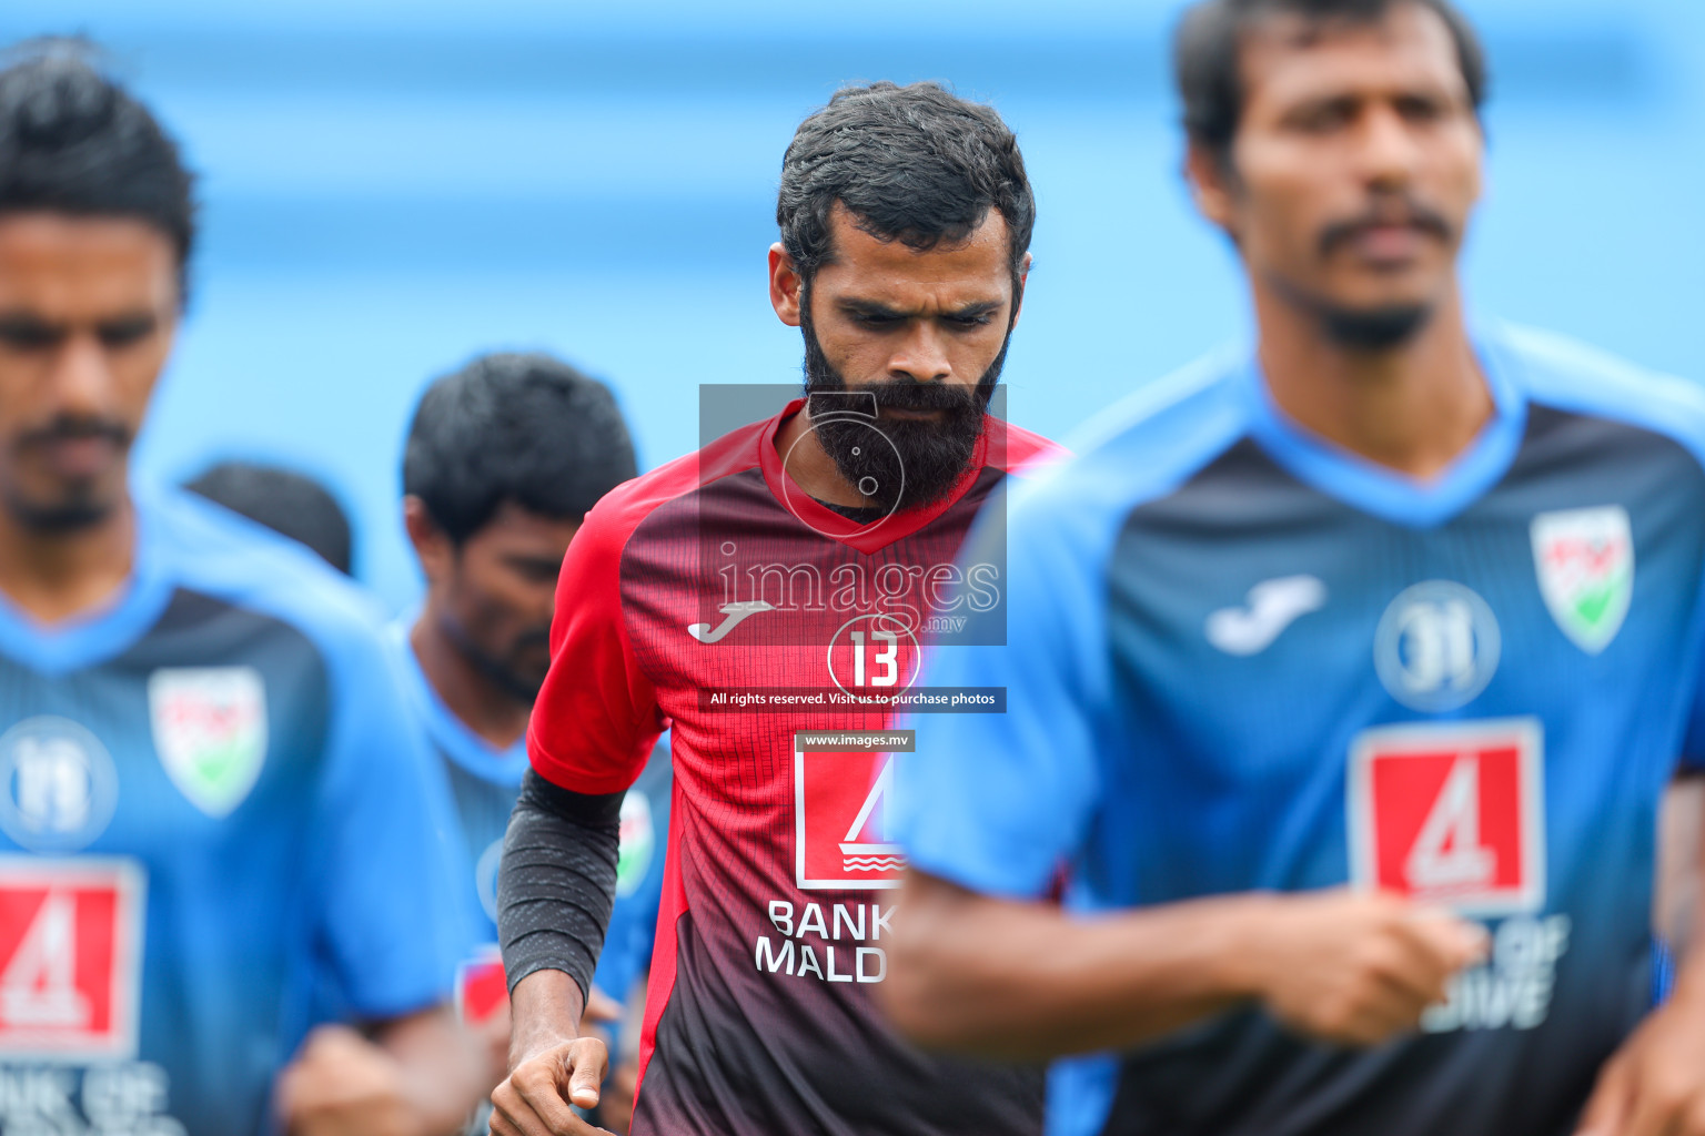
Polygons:
<instances>
[{"instance_id":1,"label":"forehead of the player wearing number 31","mask_svg":"<svg viewBox=\"0 0 1705 1136\"><path fill-rule=\"evenodd\" d=\"M1378 19L1267 17L1243 36L1238 65L1250 118L1347 95L1468 95L1449 26L1420 3L1395 3Z\"/></svg>"}]
</instances>

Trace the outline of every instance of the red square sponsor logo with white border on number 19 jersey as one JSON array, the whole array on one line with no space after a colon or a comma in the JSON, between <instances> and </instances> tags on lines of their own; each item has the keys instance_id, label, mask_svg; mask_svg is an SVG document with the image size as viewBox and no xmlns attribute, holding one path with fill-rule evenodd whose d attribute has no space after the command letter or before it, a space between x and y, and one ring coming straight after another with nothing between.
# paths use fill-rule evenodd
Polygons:
<instances>
[{"instance_id":1,"label":"red square sponsor logo with white border on number 19 jersey","mask_svg":"<svg viewBox=\"0 0 1705 1136\"><path fill-rule=\"evenodd\" d=\"M126 860L0 857L0 1058L135 1054L142 911Z\"/></svg>"}]
</instances>

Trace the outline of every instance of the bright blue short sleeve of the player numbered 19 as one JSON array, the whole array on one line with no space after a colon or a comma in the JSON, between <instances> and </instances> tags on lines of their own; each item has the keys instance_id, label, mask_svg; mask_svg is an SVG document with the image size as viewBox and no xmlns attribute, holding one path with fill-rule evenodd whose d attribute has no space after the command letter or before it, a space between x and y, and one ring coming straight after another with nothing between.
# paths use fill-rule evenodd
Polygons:
<instances>
[{"instance_id":1,"label":"bright blue short sleeve of the player numbered 19","mask_svg":"<svg viewBox=\"0 0 1705 1136\"><path fill-rule=\"evenodd\" d=\"M317 954L331 961L343 1005L382 1020L445 1001L476 935L443 768L377 628L346 639L331 659Z\"/></svg>"}]
</instances>

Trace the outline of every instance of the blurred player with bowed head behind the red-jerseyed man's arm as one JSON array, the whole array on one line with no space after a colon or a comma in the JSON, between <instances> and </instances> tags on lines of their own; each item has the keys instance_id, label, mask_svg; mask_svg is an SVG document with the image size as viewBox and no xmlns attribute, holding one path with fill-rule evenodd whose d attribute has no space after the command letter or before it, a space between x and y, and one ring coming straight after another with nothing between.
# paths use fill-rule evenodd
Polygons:
<instances>
[{"instance_id":1,"label":"blurred player with bowed head behind the red-jerseyed man's arm","mask_svg":"<svg viewBox=\"0 0 1705 1136\"><path fill-rule=\"evenodd\" d=\"M464 1020L493 1042L488 1092L506 1071L510 1034L496 961L498 855L527 770L527 715L551 666L556 577L587 511L634 472L610 392L542 354L474 359L426 390L409 426L402 519L426 596L392 632L411 703L450 778L465 843L462 891L489 944L462 967L457 991ZM662 775L646 783L667 794L667 751L658 763ZM617 891L655 921L655 896L638 894L655 846L643 823L653 807L667 814L667 797L639 792L624 806ZM660 874L651 887L662 892ZM639 966L622 954L609 961L626 967L610 990L617 998ZM588 1015L612 1018L614 1010Z\"/></svg>"}]
</instances>

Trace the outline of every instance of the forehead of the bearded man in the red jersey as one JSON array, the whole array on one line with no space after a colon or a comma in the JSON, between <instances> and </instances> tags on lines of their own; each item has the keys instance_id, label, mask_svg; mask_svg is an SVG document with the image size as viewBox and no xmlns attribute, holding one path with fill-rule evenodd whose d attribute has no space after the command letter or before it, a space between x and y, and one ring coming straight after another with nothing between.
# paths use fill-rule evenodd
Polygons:
<instances>
[{"instance_id":1,"label":"forehead of the bearded man in the red jersey","mask_svg":"<svg viewBox=\"0 0 1705 1136\"><path fill-rule=\"evenodd\" d=\"M817 271L817 288L890 303L926 295L1004 298L1011 288L1006 218L997 209L989 209L965 240L924 250L909 249L904 240L871 237L842 204L835 204L829 227L834 259Z\"/></svg>"}]
</instances>

